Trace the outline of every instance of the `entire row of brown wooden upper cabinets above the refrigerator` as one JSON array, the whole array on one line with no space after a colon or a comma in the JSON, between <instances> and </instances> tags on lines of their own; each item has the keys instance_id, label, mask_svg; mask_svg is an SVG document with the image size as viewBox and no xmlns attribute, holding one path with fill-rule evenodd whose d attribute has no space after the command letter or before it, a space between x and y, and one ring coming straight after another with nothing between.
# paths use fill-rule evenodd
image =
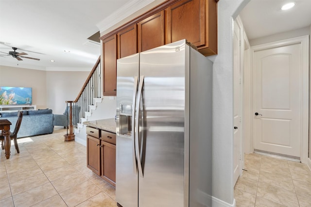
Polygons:
<instances>
[{"instance_id":1,"label":"entire row of brown wooden upper cabinets above the refrigerator","mask_svg":"<svg viewBox=\"0 0 311 207\"><path fill-rule=\"evenodd\" d=\"M102 36L104 96L117 95L117 58L182 39L217 54L217 1L167 0Z\"/></svg>"}]
</instances>

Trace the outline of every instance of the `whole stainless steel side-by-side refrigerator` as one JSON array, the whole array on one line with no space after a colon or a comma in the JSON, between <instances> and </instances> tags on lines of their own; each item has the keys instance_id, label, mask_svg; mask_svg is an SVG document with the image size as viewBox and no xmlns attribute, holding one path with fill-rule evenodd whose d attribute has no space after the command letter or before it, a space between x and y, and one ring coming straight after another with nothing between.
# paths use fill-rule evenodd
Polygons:
<instances>
[{"instance_id":1,"label":"whole stainless steel side-by-side refrigerator","mask_svg":"<svg viewBox=\"0 0 311 207\"><path fill-rule=\"evenodd\" d=\"M186 40L119 59L116 119L119 206L211 206L211 61Z\"/></svg>"}]
</instances>

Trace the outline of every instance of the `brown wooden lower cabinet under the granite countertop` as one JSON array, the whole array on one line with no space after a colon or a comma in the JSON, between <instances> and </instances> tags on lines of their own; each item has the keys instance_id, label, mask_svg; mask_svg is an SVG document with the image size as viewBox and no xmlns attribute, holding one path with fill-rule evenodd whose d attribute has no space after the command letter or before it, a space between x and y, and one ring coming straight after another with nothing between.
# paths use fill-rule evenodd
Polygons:
<instances>
[{"instance_id":1,"label":"brown wooden lower cabinet under the granite countertop","mask_svg":"<svg viewBox=\"0 0 311 207\"><path fill-rule=\"evenodd\" d=\"M86 133L87 167L116 186L116 134L92 127Z\"/></svg>"}]
</instances>

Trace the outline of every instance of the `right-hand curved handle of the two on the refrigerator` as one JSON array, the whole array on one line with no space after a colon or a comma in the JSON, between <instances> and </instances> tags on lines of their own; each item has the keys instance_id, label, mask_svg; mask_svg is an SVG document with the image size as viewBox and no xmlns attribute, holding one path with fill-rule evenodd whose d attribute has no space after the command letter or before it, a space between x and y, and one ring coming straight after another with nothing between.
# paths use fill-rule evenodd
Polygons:
<instances>
[{"instance_id":1,"label":"right-hand curved handle of the two on the refrigerator","mask_svg":"<svg viewBox=\"0 0 311 207\"><path fill-rule=\"evenodd\" d=\"M137 103L136 103L136 124L135 124L135 143L136 143L136 157L137 157L137 164L138 164L138 172L139 176L143 177L142 167L141 167L141 160L140 160L140 148L139 148L139 108L140 108L140 97L142 92L142 85L144 83L144 76L139 77L139 86L138 86L138 96L137 96Z\"/></svg>"}]
</instances>

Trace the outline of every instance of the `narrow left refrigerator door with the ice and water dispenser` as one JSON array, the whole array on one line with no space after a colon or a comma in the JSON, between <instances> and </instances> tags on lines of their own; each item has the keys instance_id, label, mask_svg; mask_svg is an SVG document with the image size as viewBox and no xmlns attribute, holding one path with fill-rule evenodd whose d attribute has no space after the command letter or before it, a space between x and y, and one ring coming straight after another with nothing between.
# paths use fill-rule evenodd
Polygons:
<instances>
[{"instance_id":1,"label":"narrow left refrigerator door with the ice and water dispenser","mask_svg":"<svg viewBox=\"0 0 311 207\"><path fill-rule=\"evenodd\" d=\"M138 207L138 173L135 157L133 110L139 75L139 54L117 61L116 200L124 207ZM136 82L136 83L135 83Z\"/></svg>"}]
</instances>

